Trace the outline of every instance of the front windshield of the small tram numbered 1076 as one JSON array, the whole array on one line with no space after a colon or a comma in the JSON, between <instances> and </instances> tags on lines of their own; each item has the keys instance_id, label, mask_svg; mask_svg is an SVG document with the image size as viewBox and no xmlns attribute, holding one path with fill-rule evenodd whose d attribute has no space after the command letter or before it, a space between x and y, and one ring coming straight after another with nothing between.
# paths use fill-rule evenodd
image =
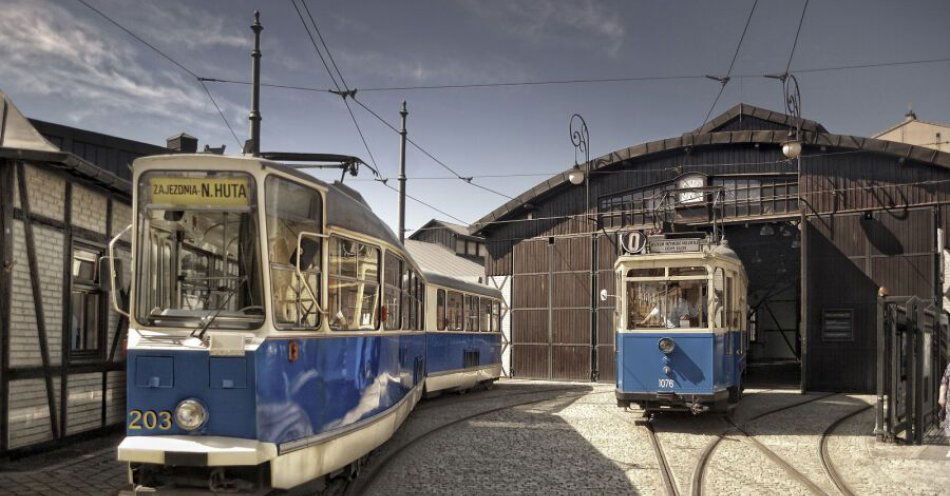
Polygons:
<instances>
[{"instance_id":1,"label":"front windshield of the small tram numbered 1076","mask_svg":"<svg viewBox=\"0 0 950 496\"><path fill-rule=\"evenodd\" d=\"M671 277L666 277L664 268L628 271L627 328L706 327L708 283L705 274L704 267L670 268Z\"/></svg>"}]
</instances>

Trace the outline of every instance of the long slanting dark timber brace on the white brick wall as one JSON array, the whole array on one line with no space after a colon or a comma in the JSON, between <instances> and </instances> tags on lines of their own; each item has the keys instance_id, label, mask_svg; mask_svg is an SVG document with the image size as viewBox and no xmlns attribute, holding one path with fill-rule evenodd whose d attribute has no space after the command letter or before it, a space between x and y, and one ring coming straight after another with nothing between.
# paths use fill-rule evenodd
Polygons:
<instances>
[{"instance_id":1,"label":"long slanting dark timber brace on the white brick wall","mask_svg":"<svg viewBox=\"0 0 950 496\"><path fill-rule=\"evenodd\" d=\"M46 401L49 406L50 429L53 437L59 438L59 425L56 416L56 401L53 398L53 374L49 363L49 343L46 340L46 315L43 312L43 292L40 287L40 273L36 262L36 238L33 235L33 223L30 220L30 198L23 175L23 162L16 164L17 183L20 190L20 208L24 213L23 232L26 244L26 258L30 271L30 285L33 290L33 310L36 316L36 333L40 345L40 358L43 361L43 376L46 380Z\"/></svg>"}]
</instances>

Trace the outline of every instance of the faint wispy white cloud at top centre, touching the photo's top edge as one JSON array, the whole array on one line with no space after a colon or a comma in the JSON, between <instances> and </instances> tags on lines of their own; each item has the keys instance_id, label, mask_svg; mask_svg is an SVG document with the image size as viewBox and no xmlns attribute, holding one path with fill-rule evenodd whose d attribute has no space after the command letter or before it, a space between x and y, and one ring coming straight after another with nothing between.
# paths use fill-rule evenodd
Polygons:
<instances>
[{"instance_id":1,"label":"faint wispy white cloud at top centre, touching the photo's top edge","mask_svg":"<svg viewBox=\"0 0 950 496\"><path fill-rule=\"evenodd\" d=\"M625 29L618 15L597 0L461 0L487 27L534 45L573 44L603 49L613 57Z\"/></svg>"}]
</instances>

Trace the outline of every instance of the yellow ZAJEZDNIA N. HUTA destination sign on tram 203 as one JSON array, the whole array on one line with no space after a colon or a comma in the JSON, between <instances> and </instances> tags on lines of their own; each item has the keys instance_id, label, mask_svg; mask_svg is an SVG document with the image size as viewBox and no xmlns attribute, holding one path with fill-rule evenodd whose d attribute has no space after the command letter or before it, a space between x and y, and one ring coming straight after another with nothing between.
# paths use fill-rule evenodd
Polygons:
<instances>
[{"instance_id":1,"label":"yellow ZAJEZDNIA N. HUTA destination sign on tram 203","mask_svg":"<svg viewBox=\"0 0 950 496\"><path fill-rule=\"evenodd\" d=\"M153 177L152 203L182 207L246 207L250 184L244 177Z\"/></svg>"}]
</instances>

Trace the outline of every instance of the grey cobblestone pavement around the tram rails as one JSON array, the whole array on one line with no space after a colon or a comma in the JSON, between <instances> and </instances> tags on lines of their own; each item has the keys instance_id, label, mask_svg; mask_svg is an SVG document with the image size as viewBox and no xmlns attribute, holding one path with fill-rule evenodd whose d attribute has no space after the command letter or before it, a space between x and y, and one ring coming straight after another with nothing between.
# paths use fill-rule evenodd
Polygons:
<instances>
[{"instance_id":1,"label":"grey cobblestone pavement around the tram rails","mask_svg":"<svg viewBox=\"0 0 950 496\"><path fill-rule=\"evenodd\" d=\"M821 491L838 494L821 465L821 435L873 398L747 393L735 421ZM814 401L754 418L806 399ZM459 422L463 417L471 418ZM417 407L372 455L351 492L661 494L649 432L636 418L617 408L611 385L505 380L492 391L447 394ZM828 443L838 473L856 494L950 494L950 447L879 443L870 435L873 423L873 410L866 410L840 424ZM705 472L707 494L811 493L722 417L667 414L653 426L680 494L692 491L701 453L723 433ZM125 484L125 470L115 461L118 440L3 463L0 494L116 494Z\"/></svg>"}]
</instances>

